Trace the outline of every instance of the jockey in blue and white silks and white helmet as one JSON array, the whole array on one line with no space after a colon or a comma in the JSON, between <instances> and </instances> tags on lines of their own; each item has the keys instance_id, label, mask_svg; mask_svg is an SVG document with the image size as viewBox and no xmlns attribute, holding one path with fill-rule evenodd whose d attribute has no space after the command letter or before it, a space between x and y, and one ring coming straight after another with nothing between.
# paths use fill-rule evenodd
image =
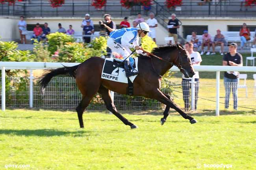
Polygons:
<instances>
[{"instance_id":1,"label":"jockey in blue and white silks and white helmet","mask_svg":"<svg viewBox=\"0 0 256 170\"><path fill-rule=\"evenodd\" d=\"M136 53L138 54L146 55L142 53L143 51L141 51L141 47L139 46L139 37L145 37L148 32L150 30L146 22L139 23L136 28L117 29L110 33L107 44L112 51L121 54L123 58L128 57L132 53L130 48L136 49ZM138 74L137 71L130 71L129 58L124 61L126 77Z\"/></svg>"}]
</instances>

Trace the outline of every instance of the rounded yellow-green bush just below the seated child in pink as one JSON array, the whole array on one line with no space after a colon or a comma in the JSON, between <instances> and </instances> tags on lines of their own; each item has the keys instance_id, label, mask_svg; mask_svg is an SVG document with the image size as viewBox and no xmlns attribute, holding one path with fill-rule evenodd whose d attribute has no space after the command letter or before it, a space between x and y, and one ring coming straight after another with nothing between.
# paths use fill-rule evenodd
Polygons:
<instances>
[{"instance_id":1,"label":"rounded yellow-green bush just below the seated child in pink","mask_svg":"<svg viewBox=\"0 0 256 170\"><path fill-rule=\"evenodd\" d=\"M65 44L66 42L75 42L75 39L73 37L59 32L51 33L46 37L48 38L49 51L51 54L54 54L58 46L60 46L61 42L63 44Z\"/></svg>"}]
</instances>

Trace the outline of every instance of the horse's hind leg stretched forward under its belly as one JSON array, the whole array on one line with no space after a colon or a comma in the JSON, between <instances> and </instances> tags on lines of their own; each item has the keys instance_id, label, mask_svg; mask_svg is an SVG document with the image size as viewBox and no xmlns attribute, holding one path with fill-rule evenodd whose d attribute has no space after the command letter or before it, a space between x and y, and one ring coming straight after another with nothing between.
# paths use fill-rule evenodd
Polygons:
<instances>
[{"instance_id":1,"label":"horse's hind leg stretched forward under its belly","mask_svg":"<svg viewBox=\"0 0 256 170\"><path fill-rule=\"evenodd\" d=\"M102 95L102 99L104 100L105 105L110 112L112 112L116 117L118 117L125 125L129 125L131 129L137 128L135 124L131 123L120 113L117 112L117 109L115 108L114 102L111 98L110 90L104 88L103 86L100 86L98 93Z\"/></svg>"}]
</instances>

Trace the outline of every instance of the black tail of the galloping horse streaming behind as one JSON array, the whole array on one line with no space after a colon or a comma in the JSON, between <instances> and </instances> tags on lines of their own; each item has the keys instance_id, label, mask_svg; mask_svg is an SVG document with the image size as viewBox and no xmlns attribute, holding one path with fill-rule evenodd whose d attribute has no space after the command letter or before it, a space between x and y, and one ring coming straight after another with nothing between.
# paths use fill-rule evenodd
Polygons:
<instances>
[{"instance_id":1,"label":"black tail of the galloping horse streaming behind","mask_svg":"<svg viewBox=\"0 0 256 170\"><path fill-rule=\"evenodd\" d=\"M70 75L75 77L75 71L78 68L79 64L72 67L64 66L62 68L52 69L48 73L45 73L39 80L39 86L41 94L45 93L45 88L47 84L50 82L52 77L55 77L56 75Z\"/></svg>"}]
</instances>

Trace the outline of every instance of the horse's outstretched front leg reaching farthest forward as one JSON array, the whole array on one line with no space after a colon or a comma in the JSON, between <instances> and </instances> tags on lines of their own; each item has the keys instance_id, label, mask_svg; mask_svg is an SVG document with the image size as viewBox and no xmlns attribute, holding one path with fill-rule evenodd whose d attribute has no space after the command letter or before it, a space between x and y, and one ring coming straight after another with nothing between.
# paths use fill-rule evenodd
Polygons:
<instances>
[{"instance_id":1,"label":"horse's outstretched front leg reaching farthest forward","mask_svg":"<svg viewBox=\"0 0 256 170\"><path fill-rule=\"evenodd\" d=\"M159 89L155 91L154 99L156 99L156 100L160 101L161 103L165 104L167 107L175 109L178 113L180 113L180 115L182 115L182 117L184 119L189 119L189 122L191 124L197 122L193 117L187 115L180 108L178 108L178 106L176 106L176 104L174 104L174 102L171 100L171 98L168 99Z\"/></svg>"}]
</instances>

